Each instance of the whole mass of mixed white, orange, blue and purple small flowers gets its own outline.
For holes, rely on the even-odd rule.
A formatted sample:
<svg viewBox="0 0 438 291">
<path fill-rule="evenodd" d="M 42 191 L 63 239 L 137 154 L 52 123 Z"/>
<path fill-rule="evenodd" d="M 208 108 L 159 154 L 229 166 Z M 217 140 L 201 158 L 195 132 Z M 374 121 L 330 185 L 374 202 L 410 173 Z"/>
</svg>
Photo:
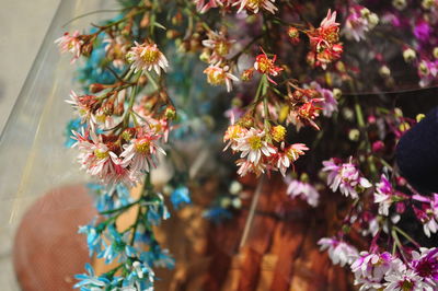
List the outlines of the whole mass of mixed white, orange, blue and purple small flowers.
<svg viewBox="0 0 438 291">
<path fill-rule="evenodd" d="M 77 288 L 153 290 L 154 269 L 174 265 L 155 235 L 166 201 L 189 205 L 208 165 L 226 190 L 206 220 L 233 219 L 243 178 L 280 178 L 285 197 L 326 214 L 318 244 L 360 290 L 438 289 L 438 194 L 416 190 L 394 159 L 425 117 L 403 113 L 397 92 L 438 83 L 437 0 L 119 4 L 118 16 L 56 40 L 83 88 L 67 101 L 78 115 L 68 144 L 99 182 L 100 216 L 79 232 L 114 266 L 96 275 L 88 265 Z M 218 137 L 223 153 L 204 151 Z M 187 149 L 194 138 L 203 146 Z"/>
</svg>

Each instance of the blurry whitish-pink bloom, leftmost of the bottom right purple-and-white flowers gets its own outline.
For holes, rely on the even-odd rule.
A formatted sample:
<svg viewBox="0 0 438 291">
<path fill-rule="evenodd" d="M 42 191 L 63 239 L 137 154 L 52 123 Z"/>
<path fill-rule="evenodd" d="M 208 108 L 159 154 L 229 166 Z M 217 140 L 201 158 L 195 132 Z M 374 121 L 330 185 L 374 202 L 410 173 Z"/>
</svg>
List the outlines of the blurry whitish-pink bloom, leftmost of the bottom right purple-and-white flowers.
<svg viewBox="0 0 438 291">
<path fill-rule="evenodd" d="M 339 264 L 342 267 L 351 264 L 359 255 L 356 247 L 334 237 L 323 237 L 318 244 L 321 251 L 328 249 L 328 257 L 334 265 Z"/>
</svg>

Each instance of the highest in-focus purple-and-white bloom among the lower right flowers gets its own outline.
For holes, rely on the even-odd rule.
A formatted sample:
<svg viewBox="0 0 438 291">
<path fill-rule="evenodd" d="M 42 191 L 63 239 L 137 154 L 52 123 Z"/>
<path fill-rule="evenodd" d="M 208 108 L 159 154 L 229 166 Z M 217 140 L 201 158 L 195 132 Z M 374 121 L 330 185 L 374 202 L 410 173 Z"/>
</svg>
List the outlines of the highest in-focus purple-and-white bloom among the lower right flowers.
<svg viewBox="0 0 438 291">
<path fill-rule="evenodd" d="M 358 191 L 372 186 L 368 179 L 360 176 L 356 165 L 351 162 L 338 165 L 333 160 L 330 160 L 324 161 L 323 165 L 322 171 L 328 172 L 327 184 L 332 191 L 336 191 L 339 188 L 344 196 L 357 199 L 359 197 Z"/>
</svg>

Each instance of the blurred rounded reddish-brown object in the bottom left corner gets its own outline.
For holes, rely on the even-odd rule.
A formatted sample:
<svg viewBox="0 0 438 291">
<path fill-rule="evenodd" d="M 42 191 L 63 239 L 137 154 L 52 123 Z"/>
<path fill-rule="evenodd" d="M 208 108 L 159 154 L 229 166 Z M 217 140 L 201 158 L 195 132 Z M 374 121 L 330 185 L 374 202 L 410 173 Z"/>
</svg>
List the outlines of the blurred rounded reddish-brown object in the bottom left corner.
<svg viewBox="0 0 438 291">
<path fill-rule="evenodd" d="M 23 216 L 13 247 L 13 264 L 24 291 L 71 290 L 76 273 L 90 261 L 85 237 L 78 226 L 95 216 L 85 187 L 49 191 Z"/>
</svg>

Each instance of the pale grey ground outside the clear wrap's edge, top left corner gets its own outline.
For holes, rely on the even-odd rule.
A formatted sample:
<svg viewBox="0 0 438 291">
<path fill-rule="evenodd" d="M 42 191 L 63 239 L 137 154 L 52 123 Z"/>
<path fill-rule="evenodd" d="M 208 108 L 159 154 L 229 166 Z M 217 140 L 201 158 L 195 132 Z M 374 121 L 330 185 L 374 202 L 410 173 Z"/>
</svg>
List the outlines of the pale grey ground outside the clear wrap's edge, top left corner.
<svg viewBox="0 0 438 291">
<path fill-rule="evenodd" d="M 0 131 L 20 93 L 60 0 L 1 0 Z M 1 272 L 0 272 L 0 276 Z"/>
</svg>

